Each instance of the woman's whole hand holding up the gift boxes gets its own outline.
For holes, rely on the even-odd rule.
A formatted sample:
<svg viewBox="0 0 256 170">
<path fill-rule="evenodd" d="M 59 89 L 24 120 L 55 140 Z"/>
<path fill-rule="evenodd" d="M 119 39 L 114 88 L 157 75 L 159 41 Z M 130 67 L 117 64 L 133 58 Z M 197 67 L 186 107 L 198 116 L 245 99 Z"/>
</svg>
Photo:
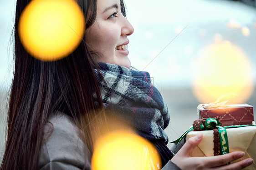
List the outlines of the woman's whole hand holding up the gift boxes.
<svg viewBox="0 0 256 170">
<path fill-rule="evenodd" d="M 237 160 L 245 155 L 244 152 L 240 151 L 210 157 L 191 157 L 190 154 L 202 139 L 203 134 L 190 138 L 171 161 L 182 170 L 241 170 L 253 163 L 253 160 L 248 158 L 226 165 L 228 162 Z"/>
</svg>

